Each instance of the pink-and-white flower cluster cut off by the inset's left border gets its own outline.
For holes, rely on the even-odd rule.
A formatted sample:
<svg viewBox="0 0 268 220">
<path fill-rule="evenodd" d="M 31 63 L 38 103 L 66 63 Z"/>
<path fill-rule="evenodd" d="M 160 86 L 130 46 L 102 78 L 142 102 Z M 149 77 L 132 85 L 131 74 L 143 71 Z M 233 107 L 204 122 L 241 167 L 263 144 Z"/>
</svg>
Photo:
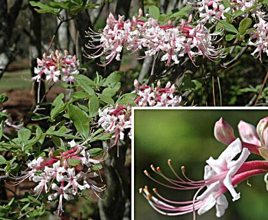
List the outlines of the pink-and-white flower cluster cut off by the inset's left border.
<svg viewBox="0 0 268 220">
<path fill-rule="evenodd" d="M 116 104 L 113 107 L 111 105 L 103 111 L 99 109 L 99 116 L 98 124 L 105 132 L 113 134 L 114 140 L 111 146 L 114 146 L 118 139 L 124 140 L 125 129 L 131 129 L 131 106 Z M 129 131 L 129 137 L 131 138 L 131 131 Z"/>
</svg>

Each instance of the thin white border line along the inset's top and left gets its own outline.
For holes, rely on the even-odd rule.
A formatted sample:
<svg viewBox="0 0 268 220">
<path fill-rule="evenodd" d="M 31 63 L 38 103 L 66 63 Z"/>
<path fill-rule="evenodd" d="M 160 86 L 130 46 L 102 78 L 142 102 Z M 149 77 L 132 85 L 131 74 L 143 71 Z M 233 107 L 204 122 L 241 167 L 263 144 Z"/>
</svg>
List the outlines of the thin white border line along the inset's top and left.
<svg viewBox="0 0 268 220">
<path fill-rule="evenodd" d="M 268 107 L 131 107 L 131 220 L 134 219 L 134 111 L 135 110 L 268 110 Z"/>
</svg>

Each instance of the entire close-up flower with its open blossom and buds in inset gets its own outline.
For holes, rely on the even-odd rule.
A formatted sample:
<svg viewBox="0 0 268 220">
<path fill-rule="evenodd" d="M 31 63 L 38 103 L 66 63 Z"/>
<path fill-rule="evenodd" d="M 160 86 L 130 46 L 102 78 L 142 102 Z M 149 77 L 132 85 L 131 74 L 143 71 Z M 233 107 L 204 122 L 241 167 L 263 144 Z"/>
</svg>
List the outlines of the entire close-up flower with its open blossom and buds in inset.
<svg viewBox="0 0 268 220">
<path fill-rule="evenodd" d="M 267 148 L 268 117 L 260 120 L 257 131 L 252 124 L 243 121 L 238 124 L 238 130 L 243 142 L 234 136 L 232 126 L 223 121 L 222 118 L 216 122 L 214 127 L 215 137 L 228 146 L 218 159 L 210 157 L 206 161 L 208 165 L 205 166 L 203 180 L 193 181 L 189 179 L 185 174 L 184 167 L 181 168 L 184 178 L 180 177 L 172 168 L 171 160 L 168 160 L 168 165 L 177 179 L 170 179 L 170 177 L 161 172 L 159 167 L 151 166 L 152 170 L 167 183 L 156 180 L 147 170 L 144 170 L 144 173 L 150 179 L 168 188 L 197 190 L 192 201 L 171 201 L 160 195 L 156 189 L 153 189 L 155 192 L 155 196 L 153 196 L 148 187 L 145 186 L 140 189 L 140 192 L 150 203 L 150 206 L 157 212 L 170 216 L 194 213 L 195 211 L 198 214 L 203 214 L 216 206 L 216 217 L 221 217 L 228 207 L 225 192 L 229 191 L 232 195 L 232 201 L 236 201 L 240 199 L 241 195 L 236 192 L 234 186 L 249 177 L 264 174 L 268 171 L 267 161 L 245 162 L 250 153 L 261 155 L 261 151 L 259 152 L 258 150 L 263 148 L 262 146 Z M 236 160 L 234 159 L 235 157 L 237 158 Z M 266 175 L 265 181 L 268 184 L 267 177 Z"/>
</svg>

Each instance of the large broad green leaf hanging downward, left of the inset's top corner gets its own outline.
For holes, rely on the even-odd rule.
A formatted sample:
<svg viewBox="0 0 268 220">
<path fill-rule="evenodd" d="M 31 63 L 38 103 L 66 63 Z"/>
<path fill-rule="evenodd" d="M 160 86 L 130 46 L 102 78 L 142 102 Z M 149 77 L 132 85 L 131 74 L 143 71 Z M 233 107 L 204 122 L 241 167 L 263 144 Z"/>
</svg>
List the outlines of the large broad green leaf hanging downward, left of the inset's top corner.
<svg viewBox="0 0 268 220">
<path fill-rule="evenodd" d="M 78 133 L 84 138 L 89 137 L 89 117 L 79 107 L 74 104 L 68 105 L 68 114 Z"/>
</svg>

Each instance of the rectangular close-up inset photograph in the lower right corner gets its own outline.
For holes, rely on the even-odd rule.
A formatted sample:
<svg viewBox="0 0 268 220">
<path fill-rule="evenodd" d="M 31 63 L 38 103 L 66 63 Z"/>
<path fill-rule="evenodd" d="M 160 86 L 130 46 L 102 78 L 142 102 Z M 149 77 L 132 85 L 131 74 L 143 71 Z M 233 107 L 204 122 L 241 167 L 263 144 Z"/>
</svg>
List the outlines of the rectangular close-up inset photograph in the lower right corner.
<svg viewBox="0 0 268 220">
<path fill-rule="evenodd" d="M 267 109 L 135 109 L 134 219 L 267 216 Z"/>
</svg>

